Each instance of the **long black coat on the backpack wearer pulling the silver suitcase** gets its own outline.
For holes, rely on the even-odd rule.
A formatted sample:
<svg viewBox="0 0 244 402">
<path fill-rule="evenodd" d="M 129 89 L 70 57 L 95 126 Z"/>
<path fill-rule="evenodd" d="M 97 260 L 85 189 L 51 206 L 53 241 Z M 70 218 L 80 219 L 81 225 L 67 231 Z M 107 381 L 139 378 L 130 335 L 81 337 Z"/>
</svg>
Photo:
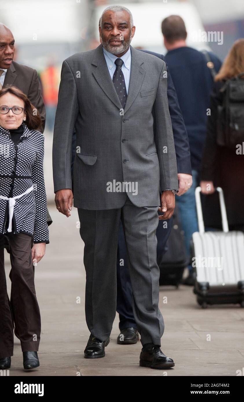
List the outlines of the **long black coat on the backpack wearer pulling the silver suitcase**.
<svg viewBox="0 0 244 402">
<path fill-rule="evenodd" d="M 223 103 L 224 82 L 216 82 L 211 95 L 211 115 L 208 116 L 206 145 L 203 154 L 201 180 L 213 181 L 222 187 L 229 226 L 244 225 L 244 155 L 236 154 L 216 143 L 217 107 Z M 206 195 L 203 200 L 205 226 L 221 228 L 217 193 Z"/>
</svg>

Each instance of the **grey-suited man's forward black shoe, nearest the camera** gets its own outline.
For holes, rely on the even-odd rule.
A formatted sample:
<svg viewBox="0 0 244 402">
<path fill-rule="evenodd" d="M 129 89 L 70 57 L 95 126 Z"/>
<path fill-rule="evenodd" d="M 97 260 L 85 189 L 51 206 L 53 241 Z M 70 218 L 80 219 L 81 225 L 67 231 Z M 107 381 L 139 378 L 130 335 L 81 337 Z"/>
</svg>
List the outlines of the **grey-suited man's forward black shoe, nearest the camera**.
<svg viewBox="0 0 244 402">
<path fill-rule="evenodd" d="M 168 369 L 174 367 L 174 361 L 164 355 L 159 345 L 147 343 L 141 350 L 140 366 L 151 367 L 152 369 Z"/>
</svg>

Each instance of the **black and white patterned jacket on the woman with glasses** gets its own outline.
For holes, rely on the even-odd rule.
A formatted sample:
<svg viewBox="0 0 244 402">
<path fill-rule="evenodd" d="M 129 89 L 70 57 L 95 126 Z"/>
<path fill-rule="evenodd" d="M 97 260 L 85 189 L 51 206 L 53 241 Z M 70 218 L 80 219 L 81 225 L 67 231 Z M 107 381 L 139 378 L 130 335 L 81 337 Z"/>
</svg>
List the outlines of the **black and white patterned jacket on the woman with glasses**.
<svg viewBox="0 0 244 402">
<path fill-rule="evenodd" d="M 34 243 L 49 243 L 47 198 L 43 176 L 44 135 L 29 130 L 19 144 L 12 142 L 10 132 L 0 126 L 0 195 L 15 197 L 33 185 L 33 191 L 15 200 L 12 222 L 14 233 L 33 236 Z M 8 200 L 0 199 L 0 234 L 7 232 Z"/>
</svg>

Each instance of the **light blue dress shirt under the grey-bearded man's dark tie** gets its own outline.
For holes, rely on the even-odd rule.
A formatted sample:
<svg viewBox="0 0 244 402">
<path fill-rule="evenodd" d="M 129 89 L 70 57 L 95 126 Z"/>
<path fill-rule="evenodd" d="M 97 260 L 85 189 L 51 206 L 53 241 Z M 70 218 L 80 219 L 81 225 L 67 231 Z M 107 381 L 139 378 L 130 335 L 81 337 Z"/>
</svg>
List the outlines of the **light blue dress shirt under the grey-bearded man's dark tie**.
<svg viewBox="0 0 244 402">
<path fill-rule="evenodd" d="M 103 47 L 103 54 L 108 66 L 108 71 L 110 73 L 111 78 L 113 79 L 114 72 L 116 70 L 116 64 L 114 64 L 116 59 L 121 59 L 123 60 L 123 65 L 122 65 L 122 72 L 124 74 L 124 80 L 125 80 L 125 86 L 126 86 L 126 92 L 128 94 L 129 90 L 129 83 L 130 83 L 130 66 L 131 66 L 131 53 L 130 53 L 130 47 L 127 50 L 126 53 L 124 53 L 121 57 L 117 57 L 114 54 L 108 52 L 107 50 L 104 49 Z"/>
</svg>

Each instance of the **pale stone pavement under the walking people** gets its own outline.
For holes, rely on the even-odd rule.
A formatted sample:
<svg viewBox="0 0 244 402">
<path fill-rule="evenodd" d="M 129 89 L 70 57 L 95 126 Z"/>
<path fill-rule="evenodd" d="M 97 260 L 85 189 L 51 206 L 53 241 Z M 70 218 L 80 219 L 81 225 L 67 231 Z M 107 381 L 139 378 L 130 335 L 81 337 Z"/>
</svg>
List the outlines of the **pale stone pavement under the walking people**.
<svg viewBox="0 0 244 402">
<path fill-rule="evenodd" d="M 78 213 L 73 207 L 71 217 L 67 218 L 54 205 L 49 205 L 48 209 L 54 221 L 50 226 L 50 244 L 35 268 L 35 287 L 42 320 L 38 353 L 40 367 L 27 373 L 23 371 L 20 342 L 14 337 L 10 376 L 235 376 L 236 370 L 242 370 L 244 309 L 227 305 L 209 306 L 203 310 L 196 303 L 192 287 L 186 286 L 179 289 L 160 288 L 159 307 L 165 322 L 161 349 L 174 359 L 173 369 L 164 371 L 139 367 L 141 343 L 116 343 L 118 314 L 110 344 L 105 349 L 106 356 L 84 359 L 89 331 L 84 312 L 85 269 L 83 242 L 77 227 Z M 9 291 L 7 253 L 5 261 Z"/>
</svg>

